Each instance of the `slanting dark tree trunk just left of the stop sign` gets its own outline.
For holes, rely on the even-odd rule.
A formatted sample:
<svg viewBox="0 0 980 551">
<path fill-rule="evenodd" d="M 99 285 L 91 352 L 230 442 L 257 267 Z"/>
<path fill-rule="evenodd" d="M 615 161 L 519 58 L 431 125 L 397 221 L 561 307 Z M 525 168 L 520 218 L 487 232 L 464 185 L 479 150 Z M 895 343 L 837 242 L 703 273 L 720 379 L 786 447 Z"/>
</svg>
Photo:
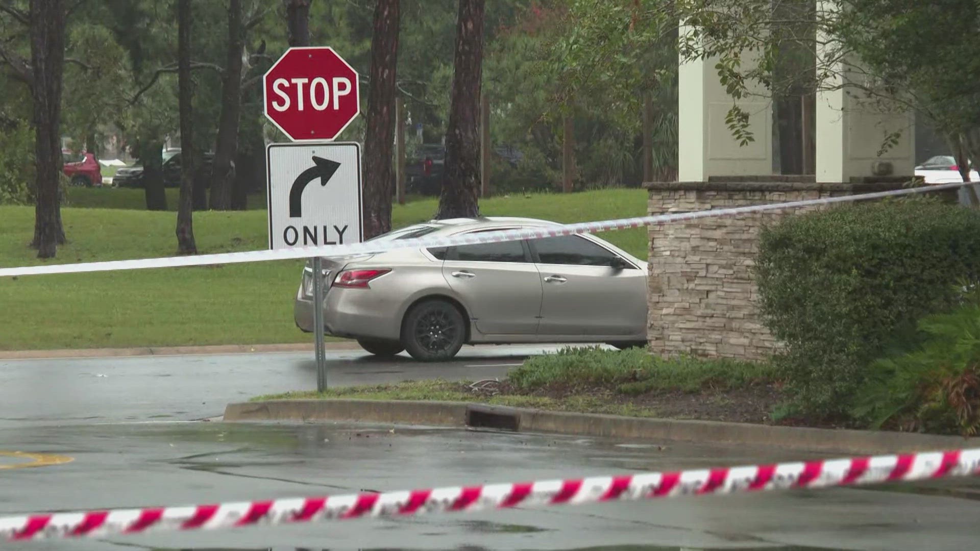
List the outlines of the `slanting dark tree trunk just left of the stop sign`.
<svg viewBox="0 0 980 551">
<path fill-rule="evenodd" d="M 242 53 L 245 34 L 242 29 L 241 0 L 228 0 L 228 51 L 221 75 L 221 119 L 218 144 L 211 180 L 211 210 L 231 209 L 231 188 L 235 182 L 235 158 L 238 152 L 238 123 L 242 110 Z"/>
</svg>

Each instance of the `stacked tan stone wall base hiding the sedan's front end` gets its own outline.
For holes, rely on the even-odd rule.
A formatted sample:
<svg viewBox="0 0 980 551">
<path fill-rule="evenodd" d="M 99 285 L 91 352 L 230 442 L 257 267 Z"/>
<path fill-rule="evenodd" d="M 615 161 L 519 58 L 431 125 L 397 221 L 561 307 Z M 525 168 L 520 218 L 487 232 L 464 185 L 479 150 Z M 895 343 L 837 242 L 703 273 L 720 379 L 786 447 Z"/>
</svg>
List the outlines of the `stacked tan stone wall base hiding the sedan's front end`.
<svg viewBox="0 0 980 551">
<path fill-rule="evenodd" d="M 901 182 L 817 184 L 804 177 L 729 177 L 655 182 L 650 214 L 682 213 L 837 197 L 902 187 Z M 809 209 L 813 209 L 810 207 Z M 815 207 L 815 208 L 832 208 Z M 779 343 L 761 325 L 753 275 L 763 225 L 805 209 L 721 216 L 650 226 L 650 349 L 758 360 Z"/>
</svg>

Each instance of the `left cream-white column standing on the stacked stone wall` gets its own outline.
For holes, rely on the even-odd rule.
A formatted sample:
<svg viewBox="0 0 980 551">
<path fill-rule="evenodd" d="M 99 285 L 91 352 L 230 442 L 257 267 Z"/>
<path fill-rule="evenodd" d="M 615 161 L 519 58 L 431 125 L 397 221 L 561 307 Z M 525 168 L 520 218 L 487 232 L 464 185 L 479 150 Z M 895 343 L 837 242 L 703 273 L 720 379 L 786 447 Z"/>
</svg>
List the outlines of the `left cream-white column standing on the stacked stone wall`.
<svg viewBox="0 0 980 551">
<path fill-rule="evenodd" d="M 683 30 L 682 30 L 683 32 Z M 772 174 L 772 107 L 761 95 L 737 101 L 749 113 L 755 141 L 741 145 L 725 118 L 734 100 L 725 92 L 715 61 L 680 60 L 677 113 L 678 179 L 708 181 L 711 176 Z M 743 69 L 754 63 L 746 56 Z M 761 86 L 753 90 L 763 93 Z"/>
</svg>

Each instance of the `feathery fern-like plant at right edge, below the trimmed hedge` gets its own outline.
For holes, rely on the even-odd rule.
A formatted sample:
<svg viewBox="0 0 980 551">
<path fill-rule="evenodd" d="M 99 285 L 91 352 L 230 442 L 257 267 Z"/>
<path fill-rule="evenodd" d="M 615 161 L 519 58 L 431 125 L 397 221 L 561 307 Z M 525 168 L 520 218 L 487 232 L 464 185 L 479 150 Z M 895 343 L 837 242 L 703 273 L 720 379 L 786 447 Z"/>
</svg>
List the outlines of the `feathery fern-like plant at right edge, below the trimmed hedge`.
<svg viewBox="0 0 980 551">
<path fill-rule="evenodd" d="M 853 413 L 872 428 L 955 432 L 980 429 L 980 300 L 919 323 L 925 342 L 874 363 Z"/>
</svg>

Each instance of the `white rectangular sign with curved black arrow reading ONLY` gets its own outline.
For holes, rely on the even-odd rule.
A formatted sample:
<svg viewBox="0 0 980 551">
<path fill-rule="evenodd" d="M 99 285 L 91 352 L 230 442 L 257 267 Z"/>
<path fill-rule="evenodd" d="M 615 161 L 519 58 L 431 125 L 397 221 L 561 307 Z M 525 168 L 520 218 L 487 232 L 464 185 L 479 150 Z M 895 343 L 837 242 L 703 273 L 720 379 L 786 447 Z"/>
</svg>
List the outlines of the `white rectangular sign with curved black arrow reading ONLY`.
<svg viewBox="0 0 980 551">
<path fill-rule="evenodd" d="M 273 143 L 267 170 L 270 249 L 362 241 L 359 144 Z"/>
</svg>

